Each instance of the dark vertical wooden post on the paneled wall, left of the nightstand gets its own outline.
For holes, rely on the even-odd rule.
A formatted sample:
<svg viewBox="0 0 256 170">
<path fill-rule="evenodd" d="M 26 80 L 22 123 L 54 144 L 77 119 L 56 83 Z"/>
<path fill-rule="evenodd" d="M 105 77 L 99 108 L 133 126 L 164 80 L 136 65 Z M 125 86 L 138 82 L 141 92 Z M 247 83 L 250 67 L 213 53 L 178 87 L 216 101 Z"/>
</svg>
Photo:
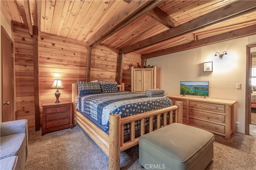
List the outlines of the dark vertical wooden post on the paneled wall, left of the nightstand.
<svg viewBox="0 0 256 170">
<path fill-rule="evenodd" d="M 33 26 L 33 56 L 34 56 L 34 96 L 35 96 L 35 129 L 40 130 L 39 112 L 39 64 L 38 64 L 38 28 Z"/>
</svg>

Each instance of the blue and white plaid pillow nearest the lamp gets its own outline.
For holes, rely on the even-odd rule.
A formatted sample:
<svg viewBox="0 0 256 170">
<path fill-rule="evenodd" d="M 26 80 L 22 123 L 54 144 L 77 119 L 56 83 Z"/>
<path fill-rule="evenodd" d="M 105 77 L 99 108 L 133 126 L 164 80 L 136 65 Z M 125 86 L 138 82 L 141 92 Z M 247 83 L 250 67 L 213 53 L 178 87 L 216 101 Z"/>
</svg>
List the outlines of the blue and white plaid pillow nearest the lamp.
<svg viewBox="0 0 256 170">
<path fill-rule="evenodd" d="M 100 89 L 100 83 L 98 82 L 77 81 L 77 86 L 80 96 L 102 93 Z"/>
</svg>

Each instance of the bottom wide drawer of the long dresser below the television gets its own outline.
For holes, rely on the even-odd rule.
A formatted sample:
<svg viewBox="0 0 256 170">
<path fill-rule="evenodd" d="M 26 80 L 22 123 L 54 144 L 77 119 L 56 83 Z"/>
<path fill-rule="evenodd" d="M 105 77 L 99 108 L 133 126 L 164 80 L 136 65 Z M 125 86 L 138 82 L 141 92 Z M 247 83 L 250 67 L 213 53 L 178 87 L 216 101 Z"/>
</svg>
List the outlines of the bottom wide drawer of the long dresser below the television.
<svg viewBox="0 0 256 170">
<path fill-rule="evenodd" d="M 222 125 L 216 125 L 214 123 L 200 121 L 200 120 L 192 119 L 192 118 L 189 118 L 189 124 L 197 126 L 197 127 L 206 128 L 209 130 L 214 130 L 214 131 L 220 132 L 220 133 L 225 133 L 225 127 Z"/>
</svg>

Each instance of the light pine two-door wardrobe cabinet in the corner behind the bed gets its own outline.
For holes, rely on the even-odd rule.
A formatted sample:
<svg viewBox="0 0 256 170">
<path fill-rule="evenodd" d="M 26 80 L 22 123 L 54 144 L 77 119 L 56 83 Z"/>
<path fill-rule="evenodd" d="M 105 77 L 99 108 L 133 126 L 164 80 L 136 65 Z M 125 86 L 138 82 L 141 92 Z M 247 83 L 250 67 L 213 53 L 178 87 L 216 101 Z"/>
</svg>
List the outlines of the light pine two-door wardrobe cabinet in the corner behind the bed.
<svg viewBox="0 0 256 170">
<path fill-rule="evenodd" d="M 131 67 L 131 91 L 145 92 L 146 89 L 156 89 L 156 67 Z"/>
</svg>

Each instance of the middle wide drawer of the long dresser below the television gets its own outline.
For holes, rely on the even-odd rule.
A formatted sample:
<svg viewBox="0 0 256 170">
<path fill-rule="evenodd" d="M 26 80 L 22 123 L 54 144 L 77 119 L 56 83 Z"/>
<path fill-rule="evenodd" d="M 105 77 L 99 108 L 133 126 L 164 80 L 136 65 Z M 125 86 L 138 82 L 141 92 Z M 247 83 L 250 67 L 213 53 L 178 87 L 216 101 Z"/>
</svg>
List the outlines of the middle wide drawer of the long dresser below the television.
<svg viewBox="0 0 256 170">
<path fill-rule="evenodd" d="M 189 110 L 189 115 L 192 117 L 199 117 L 206 120 L 216 121 L 220 123 L 225 122 L 225 116 L 224 115 L 217 115 L 212 113 L 206 113 L 201 111 L 195 111 L 195 110 Z"/>
</svg>

